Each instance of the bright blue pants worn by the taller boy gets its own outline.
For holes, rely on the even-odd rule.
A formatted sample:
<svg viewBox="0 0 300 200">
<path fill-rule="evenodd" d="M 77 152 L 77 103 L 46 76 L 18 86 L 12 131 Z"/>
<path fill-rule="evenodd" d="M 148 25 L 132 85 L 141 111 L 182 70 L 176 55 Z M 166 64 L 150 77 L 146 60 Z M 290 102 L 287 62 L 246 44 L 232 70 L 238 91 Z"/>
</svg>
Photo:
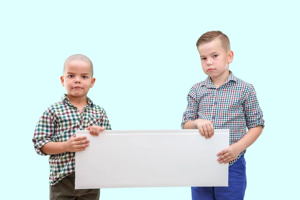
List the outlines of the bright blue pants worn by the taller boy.
<svg viewBox="0 0 300 200">
<path fill-rule="evenodd" d="M 192 200 L 242 200 L 246 184 L 246 161 L 242 155 L 229 166 L 227 187 L 191 187 L 191 198 Z"/>
</svg>

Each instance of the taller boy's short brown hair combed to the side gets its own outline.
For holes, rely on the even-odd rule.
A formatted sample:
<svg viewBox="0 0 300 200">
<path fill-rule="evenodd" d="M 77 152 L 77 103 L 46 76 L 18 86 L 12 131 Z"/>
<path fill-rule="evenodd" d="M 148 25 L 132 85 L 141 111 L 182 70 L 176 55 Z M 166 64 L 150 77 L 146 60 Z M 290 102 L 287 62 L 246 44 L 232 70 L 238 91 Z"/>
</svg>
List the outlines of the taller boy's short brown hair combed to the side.
<svg viewBox="0 0 300 200">
<path fill-rule="evenodd" d="M 227 35 L 225 35 L 224 33 L 222 33 L 219 30 L 212 30 L 212 31 L 208 31 L 208 32 L 205 32 L 204 34 L 202 34 L 198 38 L 198 40 L 196 42 L 196 46 L 198 47 L 201 44 L 208 43 L 215 38 L 220 39 L 222 46 L 226 51 L 230 50 L 229 38 L 227 37 Z"/>
</svg>

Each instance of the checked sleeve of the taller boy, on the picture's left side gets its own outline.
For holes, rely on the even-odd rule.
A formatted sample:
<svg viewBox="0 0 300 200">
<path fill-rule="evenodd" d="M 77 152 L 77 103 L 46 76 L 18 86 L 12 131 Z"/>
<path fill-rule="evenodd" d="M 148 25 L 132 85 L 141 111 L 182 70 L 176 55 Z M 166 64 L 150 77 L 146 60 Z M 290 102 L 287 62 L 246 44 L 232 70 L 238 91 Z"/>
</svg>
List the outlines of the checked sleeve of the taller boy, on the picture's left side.
<svg viewBox="0 0 300 200">
<path fill-rule="evenodd" d="M 190 88 L 187 94 L 187 106 L 183 112 L 181 128 L 183 129 L 186 121 L 195 120 L 198 116 L 198 103 L 196 100 L 196 92 L 193 87 Z"/>
</svg>

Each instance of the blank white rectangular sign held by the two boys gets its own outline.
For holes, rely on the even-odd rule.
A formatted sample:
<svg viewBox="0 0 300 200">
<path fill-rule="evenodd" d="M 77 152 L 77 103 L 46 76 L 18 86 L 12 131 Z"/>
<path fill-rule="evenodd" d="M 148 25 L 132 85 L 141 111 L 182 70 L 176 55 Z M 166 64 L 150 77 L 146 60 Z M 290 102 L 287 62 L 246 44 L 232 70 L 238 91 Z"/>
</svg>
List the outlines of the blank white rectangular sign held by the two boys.
<svg viewBox="0 0 300 200">
<path fill-rule="evenodd" d="M 205 139 L 196 129 L 104 130 L 85 135 L 75 153 L 75 189 L 116 187 L 228 186 L 228 163 L 216 153 L 229 146 L 229 130 Z"/>
</svg>

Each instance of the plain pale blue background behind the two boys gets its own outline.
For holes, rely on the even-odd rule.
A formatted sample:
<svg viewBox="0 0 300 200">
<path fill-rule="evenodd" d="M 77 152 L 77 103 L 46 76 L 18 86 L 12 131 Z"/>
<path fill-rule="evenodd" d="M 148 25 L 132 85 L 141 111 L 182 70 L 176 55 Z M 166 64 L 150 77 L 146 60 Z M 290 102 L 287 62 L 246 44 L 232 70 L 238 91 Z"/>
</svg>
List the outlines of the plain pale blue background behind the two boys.
<svg viewBox="0 0 300 200">
<path fill-rule="evenodd" d="M 66 57 L 87 55 L 88 93 L 113 129 L 179 129 L 186 94 L 203 80 L 195 47 L 228 35 L 229 68 L 256 89 L 265 129 L 248 148 L 245 199 L 295 199 L 299 165 L 299 4 L 281 1 L 1 1 L 1 199 L 48 199 L 47 157 L 31 138 L 65 92 Z M 101 200 L 190 199 L 189 187 L 101 189 Z"/>
</svg>

